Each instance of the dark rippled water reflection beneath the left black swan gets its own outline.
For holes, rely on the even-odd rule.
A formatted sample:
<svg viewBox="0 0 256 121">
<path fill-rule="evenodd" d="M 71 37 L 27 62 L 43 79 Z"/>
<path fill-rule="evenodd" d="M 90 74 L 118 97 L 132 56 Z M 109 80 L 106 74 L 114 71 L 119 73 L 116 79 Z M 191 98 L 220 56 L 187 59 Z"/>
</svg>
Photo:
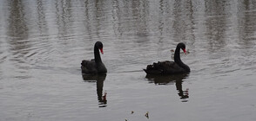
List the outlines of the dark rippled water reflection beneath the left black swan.
<svg viewBox="0 0 256 121">
<path fill-rule="evenodd" d="M 83 73 L 84 82 L 96 82 L 99 107 L 105 107 L 107 104 L 106 92 L 103 94 L 103 86 L 106 74 L 85 74 Z"/>
</svg>

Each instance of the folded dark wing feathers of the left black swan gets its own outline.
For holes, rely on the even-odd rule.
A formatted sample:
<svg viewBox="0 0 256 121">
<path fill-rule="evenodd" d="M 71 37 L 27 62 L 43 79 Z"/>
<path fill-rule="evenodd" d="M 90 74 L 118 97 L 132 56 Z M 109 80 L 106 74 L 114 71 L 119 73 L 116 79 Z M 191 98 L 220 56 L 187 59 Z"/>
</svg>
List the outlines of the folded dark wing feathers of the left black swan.
<svg viewBox="0 0 256 121">
<path fill-rule="evenodd" d="M 83 60 L 81 63 L 82 73 L 97 73 L 95 60 Z"/>
</svg>

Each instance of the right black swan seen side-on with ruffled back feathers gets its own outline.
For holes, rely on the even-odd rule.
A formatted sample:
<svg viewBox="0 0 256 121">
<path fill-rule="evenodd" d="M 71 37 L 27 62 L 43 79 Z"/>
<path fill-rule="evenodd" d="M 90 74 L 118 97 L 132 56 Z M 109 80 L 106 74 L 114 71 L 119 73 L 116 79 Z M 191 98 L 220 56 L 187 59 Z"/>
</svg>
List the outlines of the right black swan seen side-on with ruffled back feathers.
<svg viewBox="0 0 256 121">
<path fill-rule="evenodd" d="M 180 48 L 185 52 L 185 44 L 179 43 L 175 49 L 174 53 L 174 61 L 158 61 L 158 63 L 153 63 L 152 65 L 148 65 L 146 69 L 144 69 L 147 74 L 176 74 L 176 73 L 189 73 L 190 68 L 185 65 L 180 60 L 179 51 Z"/>
</svg>

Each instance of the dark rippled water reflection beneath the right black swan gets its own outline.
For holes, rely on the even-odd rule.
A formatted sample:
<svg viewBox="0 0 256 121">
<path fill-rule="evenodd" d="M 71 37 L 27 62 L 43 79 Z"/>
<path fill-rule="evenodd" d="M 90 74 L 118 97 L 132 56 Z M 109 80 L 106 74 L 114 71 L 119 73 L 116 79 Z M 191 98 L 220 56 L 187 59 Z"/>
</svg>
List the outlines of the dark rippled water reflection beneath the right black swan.
<svg viewBox="0 0 256 121">
<path fill-rule="evenodd" d="M 150 83 L 155 83 L 156 85 L 167 85 L 175 83 L 176 89 L 178 90 L 178 95 L 182 102 L 187 102 L 189 98 L 188 88 L 185 91 L 182 89 L 182 82 L 187 78 L 189 73 L 182 73 L 176 75 L 150 75 L 147 74 L 145 78 L 150 81 Z"/>
</svg>

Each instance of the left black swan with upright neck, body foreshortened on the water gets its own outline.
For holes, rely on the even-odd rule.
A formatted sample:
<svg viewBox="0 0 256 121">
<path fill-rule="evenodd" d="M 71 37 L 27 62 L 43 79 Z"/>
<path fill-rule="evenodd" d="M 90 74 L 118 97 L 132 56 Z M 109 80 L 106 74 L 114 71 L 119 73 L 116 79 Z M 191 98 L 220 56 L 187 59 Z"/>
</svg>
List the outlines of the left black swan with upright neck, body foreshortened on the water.
<svg viewBox="0 0 256 121">
<path fill-rule="evenodd" d="M 94 59 L 82 60 L 81 69 L 82 73 L 107 73 L 107 69 L 104 67 L 104 63 L 100 58 L 99 51 L 103 53 L 103 44 L 101 41 L 97 41 L 94 45 Z"/>
</svg>

